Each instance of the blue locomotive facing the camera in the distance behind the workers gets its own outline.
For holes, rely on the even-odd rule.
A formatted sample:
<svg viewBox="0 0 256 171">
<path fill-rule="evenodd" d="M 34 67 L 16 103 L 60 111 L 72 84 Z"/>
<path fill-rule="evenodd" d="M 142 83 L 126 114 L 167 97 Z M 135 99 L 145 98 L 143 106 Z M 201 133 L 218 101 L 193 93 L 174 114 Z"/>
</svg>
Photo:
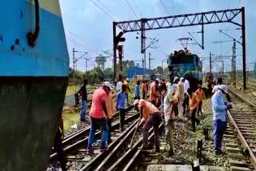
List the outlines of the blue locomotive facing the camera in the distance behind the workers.
<svg viewBox="0 0 256 171">
<path fill-rule="evenodd" d="M 202 84 L 202 61 L 197 54 L 191 54 L 188 50 L 174 51 L 167 62 L 171 77 L 186 78 L 194 90 L 198 84 Z"/>
</svg>

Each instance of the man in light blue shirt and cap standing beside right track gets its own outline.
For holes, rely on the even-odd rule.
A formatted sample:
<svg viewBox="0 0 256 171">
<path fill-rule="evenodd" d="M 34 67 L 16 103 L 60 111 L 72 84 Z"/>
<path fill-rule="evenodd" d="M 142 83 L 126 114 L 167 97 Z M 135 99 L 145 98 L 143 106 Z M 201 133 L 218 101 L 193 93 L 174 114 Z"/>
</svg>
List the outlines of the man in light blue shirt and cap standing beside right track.
<svg viewBox="0 0 256 171">
<path fill-rule="evenodd" d="M 232 106 L 224 102 L 223 95 L 228 93 L 226 85 L 219 85 L 218 91 L 211 98 L 214 113 L 214 151 L 216 155 L 222 154 L 222 137 L 226 130 L 226 110 Z"/>
</svg>

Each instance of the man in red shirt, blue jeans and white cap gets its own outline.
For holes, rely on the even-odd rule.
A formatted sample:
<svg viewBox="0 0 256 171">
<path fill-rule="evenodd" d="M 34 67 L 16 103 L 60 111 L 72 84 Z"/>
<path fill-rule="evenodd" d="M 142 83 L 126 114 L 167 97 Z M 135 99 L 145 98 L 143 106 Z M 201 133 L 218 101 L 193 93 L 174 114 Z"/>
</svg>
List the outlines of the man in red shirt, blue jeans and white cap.
<svg viewBox="0 0 256 171">
<path fill-rule="evenodd" d="M 102 125 L 103 130 L 100 147 L 101 151 L 108 149 L 106 141 L 108 138 L 109 128 L 106 121 L 108 119 L 106 100 L 111 89 L 112 88 L 110 82 L 103 82 L 102 87 L 96 89 L 92 97 L 92 103 L 90 107 L 90 133 L 88 139 L 88 154 L 91 156 L 94 156 L 94 134 L 98 129 L 98 125 Z"/>
</svg>

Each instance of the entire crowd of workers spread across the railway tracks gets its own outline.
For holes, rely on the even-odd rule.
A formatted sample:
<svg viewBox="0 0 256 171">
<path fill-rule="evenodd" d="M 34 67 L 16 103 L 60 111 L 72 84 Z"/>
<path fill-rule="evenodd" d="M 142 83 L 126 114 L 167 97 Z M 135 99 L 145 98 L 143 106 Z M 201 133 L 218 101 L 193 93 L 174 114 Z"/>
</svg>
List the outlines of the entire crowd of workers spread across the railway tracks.
<svg viewBox="0 0 256 171">
<path fill-rule="evenodd" d="M 87 92 L 86 85 L 88 81 L 85 79 L 83 85 L 78 90 L 78 93 L 82 96 L 82 109 L 80 113 L 80 120 L 86 121 L 86 104 L 87 104 Z M 87 153 L 94 156 L 94 134 L 99 129 L 99 125 L 102 127 L 102 141 L 100 144 L 101 151 L 107 150 L 108 145 L 111 143 L 111 122 L 116 111 L 119 113 L 120 126 L 119 131 L 124 131 L 124 121 L 126 115 L 126 101 L 129 104 L 128 93 L 130 93 L 129 79 L 123 81 L 120 79 L 116 85 L 117 96 L 114 104 L 111 91 L 113 85 L 110 82 L 103 82 L 102 85 L 96 89 L 93 93 L 92 103 L 90 107 L 90 134 L 88 140 Z M 142 99 L 140 98 L 140 89 L 142 89 Z M 148 90 L 149 99 L 147 99 Z M 218 78 L 218 85 L 214 86 L 212 96 L 212 109 L 214 113 L 214 149 L 216 154 L 222 153 L 222 137 L 226 129 L 226 110 L 231 109 L 232 106 L 228 102 L 224 102 L 223 94 L 226 94 L 226 98 L 230 101 L 228 90 L 226 85 L 222 85 L 222 78 Z M 192 130 L 195 131 L 196 124 L 200 121 L 196 117 L 196 113 L 202 114 L 202 101 L 205 99 L 205 93 L 202 89 L 202 85 L 198 85 L 198 89 L 194 92 L 190 89 L 190 82 L 185 78 L 172 78 L 169 82 L 156 79 L 150 84 L 146 81 L 142 82 L 142 88 L 138 81 L 134 88 L 134 109 L 140 112 L 139 125 L 143 125 L 143 149 L 149 149 L 148 136 L 150 128 L 154 127 L 155 149 L 156 152 L 160 152 L 159 141 L 159 125 L 163 119 L 166 130 L 166 141 L 168 150 L 166 155 L 174 155 L 173 147 L 173 130 L 174 121 L 186 114 L 189 114 L 192 122 Z M 114 108 L 115 105 L 115 108 Z M 62 121 L 61 121 L 62 123 Z M 63 124 L 60 124 L 58 133 L 55 137 L 54 149 L 58 152 L 59 161 L 63 163 L 65 159 L 62 157 L 62 150 L 59 146 L 62 146 L 61 140 L 63 136 Z M 66 166 L 62 164 L 62 170 L 65 170 Z"/>
</svg>

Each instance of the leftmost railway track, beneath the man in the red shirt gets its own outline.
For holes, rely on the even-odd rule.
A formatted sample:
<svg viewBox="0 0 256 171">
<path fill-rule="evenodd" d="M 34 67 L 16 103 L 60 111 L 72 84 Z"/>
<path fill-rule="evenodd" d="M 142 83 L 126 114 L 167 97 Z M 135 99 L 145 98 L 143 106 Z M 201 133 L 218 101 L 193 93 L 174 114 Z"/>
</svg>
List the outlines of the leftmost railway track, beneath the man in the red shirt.
<svg viewBox="0 0 256 171">
<path fill-rule="evenodd" d="M 115 144 L 120 141 L 122 137 L 124 137 L 128 130 L 130 130 L 130 125 L 134 125 L 135 121 L 138 120 L 139 113 L 132 110 L 133 106 L 130 106 L 126 109 L 128 113 L 126 113 L 126 119 L 125 119 L 125 132 L 124 133 L 118 133 L 119 128 L 119 121 L 114 121 L 112 123 L 112 129 L 113 129 L 113 135 L 112 139 L 114 140 L 110 145 L 109 148 L 114 147 Z M 86 163 L 90 162 L 92 158 L 90 158 L 89 155 L 86 154 L 86 147 L 88 144 L 88 135 L 90 133 L 90 127 L 87 127 L 86 129 L 78 130 L 76 133 L 73 133 L 72 136 L 66 137 L 66 139 L 63 141 L 64 145 L 64 154 L 67 157 L 67 160 L 70 162 L 70 170 L 78 170 L 81 169 Z M 95 138 L 100 139 L 101 131 L 98 130 L 95 133 Z M 99 147 L 98 147 L 98 141 L 96 141 L 95 153 L 98 155 L 104 155 L 104 153 L 99 153 Z M 110 150 L 109 150 L 110 151 Z M 96 156 L 96 157 L 97 157 Z M 94 157 L 95 158 L 95 157 Z M 50 155 L 50 162 L 54 162 L 57 159 L 57 153 L 52 153 Z M 76 163 L 76 164 L 74 164 Z M 80 164 L 80 166 L 79 166 Z M 73 165 L 75 165 L 73 167 Z"/>
</svg>

